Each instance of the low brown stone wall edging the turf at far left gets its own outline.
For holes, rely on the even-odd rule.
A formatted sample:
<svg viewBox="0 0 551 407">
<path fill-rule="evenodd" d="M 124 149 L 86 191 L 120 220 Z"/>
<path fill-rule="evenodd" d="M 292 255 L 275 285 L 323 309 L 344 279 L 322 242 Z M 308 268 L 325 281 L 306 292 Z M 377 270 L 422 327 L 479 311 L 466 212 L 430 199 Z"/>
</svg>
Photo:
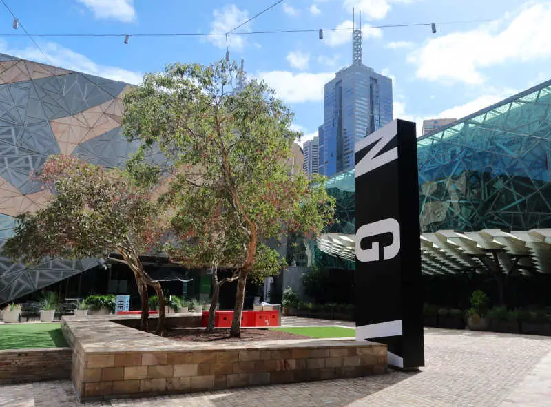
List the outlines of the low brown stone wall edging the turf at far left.
<svg viewBox="0 0 551 407">
<path fill-rule="evenodd" d="M 0 384 L 67 380 L 71 348 L 0 351 Z"/>
</svg>

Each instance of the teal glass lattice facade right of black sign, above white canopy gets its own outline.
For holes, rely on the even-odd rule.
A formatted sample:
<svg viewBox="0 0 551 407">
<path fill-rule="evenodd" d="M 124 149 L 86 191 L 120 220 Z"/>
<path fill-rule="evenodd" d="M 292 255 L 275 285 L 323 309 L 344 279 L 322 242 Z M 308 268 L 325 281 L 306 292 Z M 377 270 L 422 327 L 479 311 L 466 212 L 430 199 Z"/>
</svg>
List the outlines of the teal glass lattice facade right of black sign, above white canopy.
<svg viewBox="0 0 551 407">
<path fill-rule="evenodd" d="M 422 231 L 551 227 L 551 81 L 417 140 Z"/>
</svg>

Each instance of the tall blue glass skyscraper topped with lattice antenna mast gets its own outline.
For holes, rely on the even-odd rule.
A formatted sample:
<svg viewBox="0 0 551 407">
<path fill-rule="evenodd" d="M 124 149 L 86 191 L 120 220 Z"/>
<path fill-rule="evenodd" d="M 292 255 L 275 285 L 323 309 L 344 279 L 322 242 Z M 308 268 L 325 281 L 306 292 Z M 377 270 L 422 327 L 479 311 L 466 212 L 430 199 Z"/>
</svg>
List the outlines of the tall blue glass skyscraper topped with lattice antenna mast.
<svg viewBox="0 0 551 407">
<path fill-rule="evenodd" d="M 320 173 L 354 167 L 354 145 L 393 120 L 392 80 L 362 63 L 362 30 L 352 34 L 353 63 L 325 84 Z"/>
</svg>

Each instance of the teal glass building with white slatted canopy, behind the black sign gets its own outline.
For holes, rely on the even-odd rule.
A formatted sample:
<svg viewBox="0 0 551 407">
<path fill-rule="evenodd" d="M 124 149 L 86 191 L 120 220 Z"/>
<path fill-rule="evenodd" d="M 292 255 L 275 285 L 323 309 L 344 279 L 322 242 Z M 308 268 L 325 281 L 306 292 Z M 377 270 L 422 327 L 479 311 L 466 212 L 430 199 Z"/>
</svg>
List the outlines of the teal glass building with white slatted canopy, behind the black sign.
<svg viewBox="0 0 551 407">
<path fill-rule="evenodd" d="M 419 137 L 417 163 L 424 273 L 551 273 L 551 81 Z M 353 180 L 327 180 L 346 185 L 347 210 L 317 244 L 343 260 L 355 259 Z"/>
</svg>

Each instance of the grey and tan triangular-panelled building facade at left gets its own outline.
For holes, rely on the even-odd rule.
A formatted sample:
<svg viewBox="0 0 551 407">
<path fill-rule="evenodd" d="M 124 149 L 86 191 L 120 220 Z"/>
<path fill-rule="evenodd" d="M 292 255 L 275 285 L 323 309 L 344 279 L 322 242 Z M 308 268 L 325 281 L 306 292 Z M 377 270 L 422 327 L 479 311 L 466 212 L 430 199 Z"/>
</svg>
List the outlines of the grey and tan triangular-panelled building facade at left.
<svg viewBox="0 0 551 407">
<path fill-rule="evenodd" d="M 30 176 L 52 154 L 117 167 L 136 152 L 121 132 L 130 85 L 0 54 L 0 248 L 14 216 L 50 193 Z M 54 259 L 26 267 L 0 257 L 0 304 L 63 280 L 97 260 Z"/>
</svg>

